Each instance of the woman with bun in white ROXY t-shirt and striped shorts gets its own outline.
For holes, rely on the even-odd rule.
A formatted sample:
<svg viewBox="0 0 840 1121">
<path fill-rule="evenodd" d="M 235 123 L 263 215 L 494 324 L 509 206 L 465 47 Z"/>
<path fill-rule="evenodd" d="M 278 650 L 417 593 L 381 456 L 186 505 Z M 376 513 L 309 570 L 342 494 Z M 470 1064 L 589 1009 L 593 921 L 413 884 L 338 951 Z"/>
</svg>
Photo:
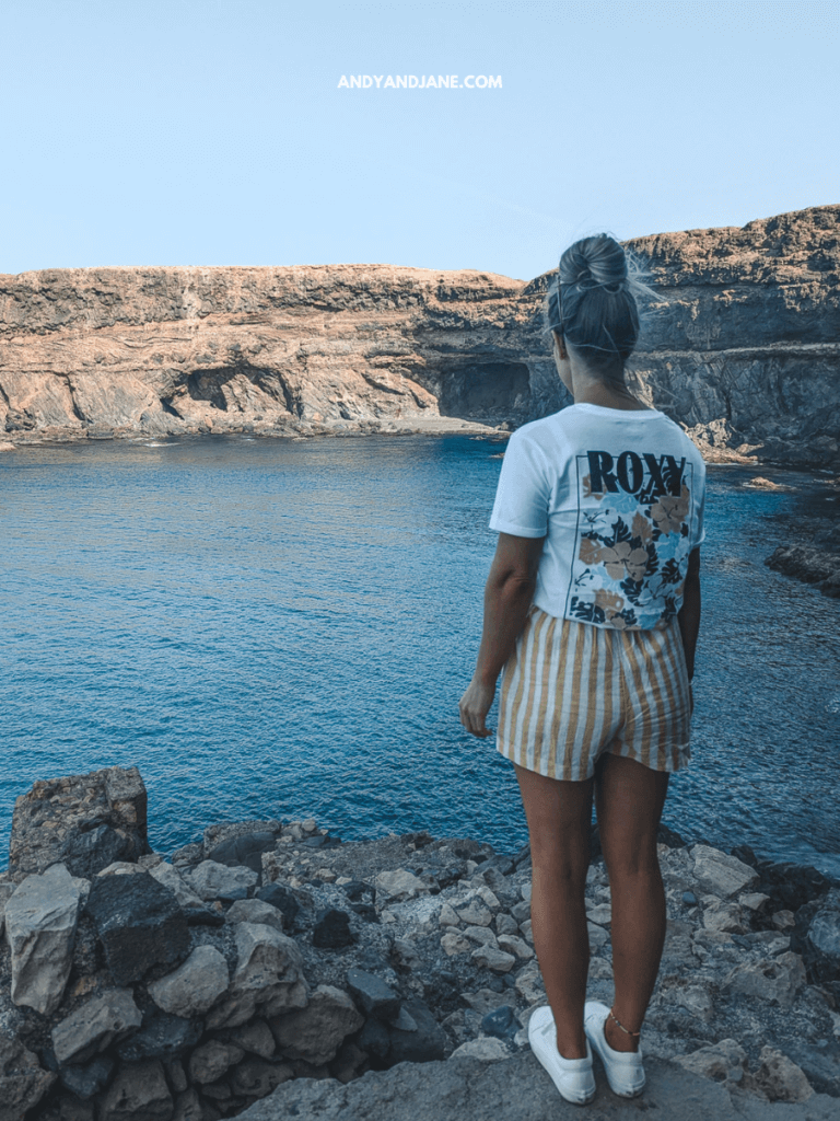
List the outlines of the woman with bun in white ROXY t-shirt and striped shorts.
<svg viewBox="0 0 840 1121">
<path fill-rule="evenodd" d="M 545 300 L 575 404 L 523 425 L 502 463 L 475 675 L 474 735 L 502 674 L 497 750 L 519 779 L 531 841 L 531 917 L 549 1004 L 529 1039 L 559 1092 L 645 1075 L 640 1035 L 665 937 L 656 831 L 669 775 L 691 758 L 706 471 L 682 429 L 625 385 L 653 295 L 608 234 L 563 253 Z M 584 902 L 592 798 L 612 892 L 615 1001 L 586 1000 Z"/>
</svg>

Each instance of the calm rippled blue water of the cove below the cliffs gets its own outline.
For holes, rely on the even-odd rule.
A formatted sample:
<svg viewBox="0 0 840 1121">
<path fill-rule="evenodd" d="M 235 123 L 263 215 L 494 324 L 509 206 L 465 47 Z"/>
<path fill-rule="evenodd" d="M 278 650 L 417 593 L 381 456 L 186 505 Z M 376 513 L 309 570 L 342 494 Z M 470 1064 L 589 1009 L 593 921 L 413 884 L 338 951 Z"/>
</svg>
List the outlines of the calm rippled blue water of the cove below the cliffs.
<svg viewBox="0 0 840 1121">
<path fill-rule="evenodd" d="M 0 457 L 0 861 L 38 778 L 137 763 L 150 840 L 317 818 L 513 851 L 512 765 L 468 735 L 504 445 L 101 443 Z M 709 467 L 694 758 L 664 821 L 840 874 L 840 601 L 771 572 L 824 479 Z M 489 715 L 495 728 L 496 706 Z"/>
</svg>

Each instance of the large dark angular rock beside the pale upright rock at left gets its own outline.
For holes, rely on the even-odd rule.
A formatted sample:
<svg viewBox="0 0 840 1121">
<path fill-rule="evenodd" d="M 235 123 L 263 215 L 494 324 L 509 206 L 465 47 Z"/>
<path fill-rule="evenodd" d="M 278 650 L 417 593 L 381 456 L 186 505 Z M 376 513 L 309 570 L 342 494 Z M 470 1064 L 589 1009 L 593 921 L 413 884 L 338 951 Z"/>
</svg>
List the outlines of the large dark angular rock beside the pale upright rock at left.
<svg viewBox="0 0 840 1121">
<path fill-rule="evenodd" d="M 148 872 L 97 877 L 85 909 L 118 985 L 139 981 L 152 965 L 179 965 L 189 954 L 186 915 Z"/>
</svg>

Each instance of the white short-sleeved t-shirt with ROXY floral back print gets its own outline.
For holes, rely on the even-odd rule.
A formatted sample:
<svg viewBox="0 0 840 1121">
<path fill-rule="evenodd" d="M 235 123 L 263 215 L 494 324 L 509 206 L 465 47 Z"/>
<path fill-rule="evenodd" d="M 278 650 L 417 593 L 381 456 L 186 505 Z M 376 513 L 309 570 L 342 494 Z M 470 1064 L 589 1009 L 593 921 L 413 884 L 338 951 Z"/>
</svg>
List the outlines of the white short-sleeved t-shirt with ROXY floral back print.
<svg viewBox="0 0 840 1121">
<path fill-rule="evenodd" d="M 664 413 L 569 405 L 512 434 L 489 527 L 545 537 L 533 602 L 549 614 L 661 629 L 706 537 L 704 494 L 702 456 Z"/>
</svg>

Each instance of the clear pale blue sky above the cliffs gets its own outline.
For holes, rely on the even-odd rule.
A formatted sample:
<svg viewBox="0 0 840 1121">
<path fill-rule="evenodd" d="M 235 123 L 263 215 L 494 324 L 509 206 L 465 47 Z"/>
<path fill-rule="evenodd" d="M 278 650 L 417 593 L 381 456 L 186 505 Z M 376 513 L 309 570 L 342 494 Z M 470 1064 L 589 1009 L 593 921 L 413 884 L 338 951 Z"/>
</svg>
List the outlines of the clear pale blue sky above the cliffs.
<svg viewBox="0 0 840 1121">
<path fill-rule="evenodd" d="M 3 0 L 0 272 L 384 262 L 840 202 L 836 0 Z M 342 75 L 502 89 L 339 89 Z"/>
</svg>

